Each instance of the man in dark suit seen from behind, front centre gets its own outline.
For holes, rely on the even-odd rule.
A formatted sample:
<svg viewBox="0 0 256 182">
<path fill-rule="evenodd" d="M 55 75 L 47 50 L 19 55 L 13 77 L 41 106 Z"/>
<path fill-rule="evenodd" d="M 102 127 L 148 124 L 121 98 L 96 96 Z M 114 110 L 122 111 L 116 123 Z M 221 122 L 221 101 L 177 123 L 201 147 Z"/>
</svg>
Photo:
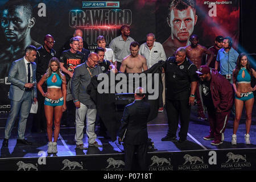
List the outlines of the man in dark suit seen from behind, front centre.
<svg viewBox="0 0 256 182">
<path fill-rule="evenodd" d="M 119 128 L 118 142 L 124 139 L 125 169 L 131 170 L 134 152 L 137 150 L 138 163 L 141 170 L 147 170 L 147 121 L 150 115 L 150 104 L 143 101 L 145 94 L 143 88 L 135 90 L 135 101 L 123 111 L 121 126 Z"/>
</svg>

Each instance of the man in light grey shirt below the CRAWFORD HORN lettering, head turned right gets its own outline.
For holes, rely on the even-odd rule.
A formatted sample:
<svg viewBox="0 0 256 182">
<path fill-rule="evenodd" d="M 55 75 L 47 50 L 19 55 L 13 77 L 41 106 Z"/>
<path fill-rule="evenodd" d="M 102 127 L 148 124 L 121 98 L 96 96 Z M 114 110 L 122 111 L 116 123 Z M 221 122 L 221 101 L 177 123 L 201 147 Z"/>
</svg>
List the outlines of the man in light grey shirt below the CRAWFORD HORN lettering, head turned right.
<svg viewBox="0 0 256 182">
<path fill-rule="evenodd" d="M 122 60 L 130 55 L 130 44 L 134 42 L 134 39 L 130 37 L 131 31 L 130 27 L 127 25 L 123 25 L 120 28 L 121 35 L 114 38 L 110 44 L 109 48 L 114 51 L 115 60 L 117 61 L 117 70 L 119 71 Z"/>
</svg>

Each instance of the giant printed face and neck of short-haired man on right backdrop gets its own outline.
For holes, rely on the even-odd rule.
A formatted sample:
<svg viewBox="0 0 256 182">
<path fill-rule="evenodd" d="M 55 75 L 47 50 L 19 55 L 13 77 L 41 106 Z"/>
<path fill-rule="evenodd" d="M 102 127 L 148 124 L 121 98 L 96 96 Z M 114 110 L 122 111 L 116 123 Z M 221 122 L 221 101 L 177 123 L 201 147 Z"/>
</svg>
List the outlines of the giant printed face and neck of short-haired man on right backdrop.
<svg viewBox="0 0 256 182">
<path fill-rule="evenodd" d="M 171 35 L 163 43 L 166 56 L 173 56 L 177 48 L 189 44 L 197 22 L 195 0 L 171 0 L 168 4 L 167 23 L 171 27 Z"/>
</svg>

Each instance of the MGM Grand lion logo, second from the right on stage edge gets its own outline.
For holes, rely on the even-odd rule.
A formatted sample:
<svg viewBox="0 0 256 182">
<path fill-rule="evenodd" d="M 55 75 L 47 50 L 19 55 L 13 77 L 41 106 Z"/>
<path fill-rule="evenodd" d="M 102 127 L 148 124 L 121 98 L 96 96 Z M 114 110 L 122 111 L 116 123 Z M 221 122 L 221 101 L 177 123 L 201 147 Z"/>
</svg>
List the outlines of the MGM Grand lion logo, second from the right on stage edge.
<svg viewBox="0 0 256 182">
<path fill-rule="evenodd" d="M 185 162 L 178 166 L 179 171 L 199 171 L 200 169 L 208 169 L 208 164 L 204 164 L 203 156 L 191 156 L 186 154 L 183 156 Z"/>
</svg>

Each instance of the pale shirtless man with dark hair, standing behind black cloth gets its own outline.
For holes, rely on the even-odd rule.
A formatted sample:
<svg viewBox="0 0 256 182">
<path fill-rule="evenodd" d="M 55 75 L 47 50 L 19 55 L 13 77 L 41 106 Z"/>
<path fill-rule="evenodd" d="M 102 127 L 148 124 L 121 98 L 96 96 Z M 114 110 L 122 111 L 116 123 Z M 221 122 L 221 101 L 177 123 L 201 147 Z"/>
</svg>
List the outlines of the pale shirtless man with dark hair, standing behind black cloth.
<svg viewBox="0 0 256 182">
<path fill-rule="evenodd" d="M 141 73 L 147 70 L 147 61 L 145 57 L 139 55 L 139 43 L 132 42 L 130 44 L 131 54 L 122 60 L 120 72 Z M 142 70 L 143 69 L 143 70 Z"/>
</svg>

